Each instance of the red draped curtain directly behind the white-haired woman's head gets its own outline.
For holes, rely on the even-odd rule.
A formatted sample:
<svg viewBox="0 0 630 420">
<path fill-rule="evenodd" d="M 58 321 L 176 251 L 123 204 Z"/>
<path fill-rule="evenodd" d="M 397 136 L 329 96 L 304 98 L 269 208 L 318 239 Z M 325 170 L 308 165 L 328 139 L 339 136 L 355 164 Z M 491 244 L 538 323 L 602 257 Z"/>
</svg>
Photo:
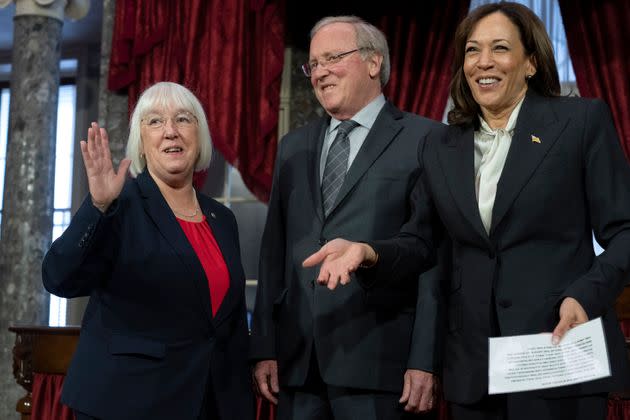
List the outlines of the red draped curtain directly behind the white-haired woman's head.
<svg viewBox="0 0 630 420">
<path fill-rule="evenodd" d="M 131 110 L 153 83 L 187 86 L 204 105 L 214 146 L 263 201 L 277 144 L 284 9 L 284 0 L 116 2 L 109 89 L 126 88 Z"/>
</svg>

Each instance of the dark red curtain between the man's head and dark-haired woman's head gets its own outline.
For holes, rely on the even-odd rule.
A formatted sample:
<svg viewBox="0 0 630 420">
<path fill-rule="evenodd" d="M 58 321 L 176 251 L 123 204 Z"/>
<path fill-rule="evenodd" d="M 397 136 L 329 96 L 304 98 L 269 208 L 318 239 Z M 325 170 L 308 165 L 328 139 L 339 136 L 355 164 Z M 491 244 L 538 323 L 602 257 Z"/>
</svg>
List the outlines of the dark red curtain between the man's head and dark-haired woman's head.
<svg viewBox="0 0 630 420">
<path fill-rule="evenodd" d="M 441 121 L 451 79 L 453 36 L 470 0 L 423 2 L 379 22 L 390 46 L 385 96 L 399 108 Z"/>
</svg>

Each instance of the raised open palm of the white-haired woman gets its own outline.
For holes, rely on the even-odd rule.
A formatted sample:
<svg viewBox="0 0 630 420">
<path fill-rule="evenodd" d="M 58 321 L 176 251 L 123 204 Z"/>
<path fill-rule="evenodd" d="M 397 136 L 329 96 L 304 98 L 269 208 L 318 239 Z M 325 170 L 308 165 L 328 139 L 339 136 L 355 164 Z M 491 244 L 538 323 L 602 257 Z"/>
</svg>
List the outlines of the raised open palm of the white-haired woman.
<svg viewBox="0 0 630 420">
<path fill-rule="evenodd" d="M 97 123 L 92 123 L 88 128 L 87 140 L 81 140 L 81 154 L 92 203 L 104 212 L 122 191 L 131 161 L 123 159 L 118 166 L 118 172 L 114 170 L 107 131 Z"/>
</svg>

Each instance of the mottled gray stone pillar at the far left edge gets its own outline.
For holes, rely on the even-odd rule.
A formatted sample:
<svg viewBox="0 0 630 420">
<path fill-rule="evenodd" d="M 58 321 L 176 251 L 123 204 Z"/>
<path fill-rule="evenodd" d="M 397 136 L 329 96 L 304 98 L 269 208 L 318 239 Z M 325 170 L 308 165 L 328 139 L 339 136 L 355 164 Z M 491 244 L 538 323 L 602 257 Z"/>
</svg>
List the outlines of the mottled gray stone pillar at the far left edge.
<svg viewBox="0 0 630 420">
<path fill-rule="evenodd" d="M 0 1 L 6 6 L 10 1 Z M 41 263 L 52 234 L 61 28 L 89 0 L 18 0 L 0 236 L 0 418 L 16 418 L 12 322 L 48 323 Z"/>
</svg>

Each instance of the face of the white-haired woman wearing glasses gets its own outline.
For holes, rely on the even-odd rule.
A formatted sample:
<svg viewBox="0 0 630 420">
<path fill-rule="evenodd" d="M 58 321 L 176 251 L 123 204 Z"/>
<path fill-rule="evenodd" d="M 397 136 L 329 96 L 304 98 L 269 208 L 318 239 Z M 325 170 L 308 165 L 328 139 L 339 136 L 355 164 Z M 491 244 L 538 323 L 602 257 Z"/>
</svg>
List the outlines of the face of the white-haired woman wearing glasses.
<svg viewBox="0 0 630 420">
<path fill-rule="evenodd" d="M 154 179 L 168 185 L 192 181 L 199 157 L 197 129 L 194 116 L 184 110 L 154 109 L 142 118 L 142 152 Z"/>
</svg>

